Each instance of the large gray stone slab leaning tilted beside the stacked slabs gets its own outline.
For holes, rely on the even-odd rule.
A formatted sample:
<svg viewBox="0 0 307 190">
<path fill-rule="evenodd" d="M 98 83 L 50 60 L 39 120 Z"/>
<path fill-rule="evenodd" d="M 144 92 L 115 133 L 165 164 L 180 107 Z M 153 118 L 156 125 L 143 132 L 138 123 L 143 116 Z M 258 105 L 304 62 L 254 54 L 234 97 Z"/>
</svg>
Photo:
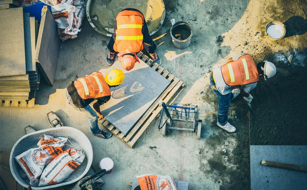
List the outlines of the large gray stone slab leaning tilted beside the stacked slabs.
<svg viewBox="0 0 307 190">
<path fill-rule="evenodd" d="M 49 85 L 53 85 L 61 40 L 49 9 L 41 17 L 35 48 L 35 61 Z"/>
</svg>

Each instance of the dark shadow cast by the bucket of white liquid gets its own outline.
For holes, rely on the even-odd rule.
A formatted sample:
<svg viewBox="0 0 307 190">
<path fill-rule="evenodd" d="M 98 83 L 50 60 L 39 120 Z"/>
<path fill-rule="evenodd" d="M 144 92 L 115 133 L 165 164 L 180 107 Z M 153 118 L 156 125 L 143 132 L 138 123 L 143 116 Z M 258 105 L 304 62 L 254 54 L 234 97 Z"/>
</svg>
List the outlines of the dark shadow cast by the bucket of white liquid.
<svg viewBox="0 0 307 190">
<path fill-rule="evenodd" d="M 307 32 L 307 19 L 300 16 L 290 17 L 283 23 L 286 26 L 286 37 L 302 35 Z"/>
</svg>

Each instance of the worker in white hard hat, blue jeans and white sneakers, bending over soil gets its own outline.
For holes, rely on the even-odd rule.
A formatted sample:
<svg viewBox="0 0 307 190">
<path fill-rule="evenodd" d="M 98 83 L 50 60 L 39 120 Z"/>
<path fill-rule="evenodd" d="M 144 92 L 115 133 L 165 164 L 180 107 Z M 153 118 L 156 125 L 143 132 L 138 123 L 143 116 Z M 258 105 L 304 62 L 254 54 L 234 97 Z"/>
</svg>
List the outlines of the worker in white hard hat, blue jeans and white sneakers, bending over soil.
<svg viewBox="0 0 307 190">
<path fill-rule="evenodd" d="M 227 122 L 227 113 L 231 101 L 239 94 L 251 105 L 253 96 L 249 94 L 253 90 L 259 77 L 271 78 L 276 74 L 276 67 L 269 61 L 260 62 L 257 66 L 251 55 L 234 56 L 224 64 L 214 69 L 210 74 L 211 88 L 219 101 L 218 122 L 222 129 L 232 133 L 235 127 Z M 239 87 L 243 87 L 240 90 Z"/>
</svg>

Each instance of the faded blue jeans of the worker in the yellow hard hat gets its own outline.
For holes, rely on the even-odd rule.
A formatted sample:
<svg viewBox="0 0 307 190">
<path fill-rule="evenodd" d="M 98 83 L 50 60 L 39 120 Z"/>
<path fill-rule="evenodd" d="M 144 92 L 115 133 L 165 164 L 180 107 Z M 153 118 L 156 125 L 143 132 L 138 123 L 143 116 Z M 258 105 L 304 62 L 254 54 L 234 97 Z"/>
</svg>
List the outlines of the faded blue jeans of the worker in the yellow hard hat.
<svg viewBox="0 0 307 190">
<path fill-rule="evenodd" d="M 97 134 L 99 133 L 100 129 L 98 127 L 98 116 L 96 114 L 96 112 L 91 108 L 90 105 L 87 105 L 84 108 L 77 108 L 70 100 L 71 97 L 68 94 L 68 91 L 66 91 L 66 97 L 68 100 L 68 103 L 75 108 L 78 111 L 81 111 L 82 114 L 84 114 L 84 116 L 87 118 L 89 124 L 90 124 L 90 129 L 92 131 L 92 133 Z"/>
</svg>

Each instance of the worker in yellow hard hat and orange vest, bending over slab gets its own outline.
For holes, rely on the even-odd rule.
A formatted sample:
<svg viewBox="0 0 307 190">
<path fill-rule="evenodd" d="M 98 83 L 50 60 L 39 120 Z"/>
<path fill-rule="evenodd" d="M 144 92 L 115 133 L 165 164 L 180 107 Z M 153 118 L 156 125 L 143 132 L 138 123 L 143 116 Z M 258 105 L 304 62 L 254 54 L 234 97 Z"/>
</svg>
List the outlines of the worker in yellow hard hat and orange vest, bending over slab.
<svg viewBox="0 0 307 190">
<path fill-rule="evenodd" d="M 111 87 L 116 87 L 124 81 L 125 75 L 120 69 L 113 69 L 105 77 L 100 72 L 78 78 L 72 81 L 66 91 L 68 103 L 76 110 L 81 111 L 88 119 L 90 129 L 93 135 L 100 138 L 110 138 L 112 134 L 108 131 L 100 130 L 98 127 L 98 118 L 103 117 L 100 112 L 100 106 L 111 97 Z M 90 107 L 90 103 L 97 100 L 93 104 L 94 110 Z"/>
</svg>

